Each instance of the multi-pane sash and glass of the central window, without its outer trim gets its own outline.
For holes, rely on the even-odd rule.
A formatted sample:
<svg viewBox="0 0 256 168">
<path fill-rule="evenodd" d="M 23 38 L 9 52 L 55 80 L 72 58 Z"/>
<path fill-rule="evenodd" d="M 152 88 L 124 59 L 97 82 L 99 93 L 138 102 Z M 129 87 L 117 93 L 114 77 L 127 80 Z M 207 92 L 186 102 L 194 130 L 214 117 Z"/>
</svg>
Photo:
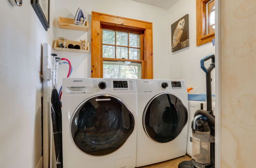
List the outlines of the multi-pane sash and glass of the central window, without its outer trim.
<svg viewBox="0 0 256 168">
<path fill-rule="evenodd" d="M 141 63 L 134 62 L 142 60 L 140 43 L 139 32 L 102 29 L 103 78 L 140 79 Z"/>
</svg>

